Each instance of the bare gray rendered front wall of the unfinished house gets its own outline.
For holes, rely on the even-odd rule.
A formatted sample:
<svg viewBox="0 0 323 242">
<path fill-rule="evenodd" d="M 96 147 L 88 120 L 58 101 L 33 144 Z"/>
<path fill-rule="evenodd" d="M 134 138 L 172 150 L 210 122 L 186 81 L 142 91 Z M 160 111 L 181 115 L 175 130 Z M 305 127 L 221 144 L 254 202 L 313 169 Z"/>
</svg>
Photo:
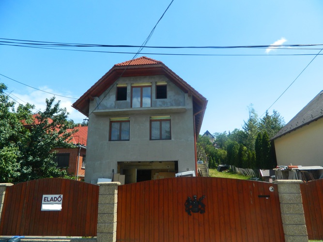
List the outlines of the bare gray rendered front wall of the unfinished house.
<svg viewBox="0 0 323 242">
<path fill-rule="evenodd" d="M 167 82 L 167 99 L 155 99 L 158 81 Z M 138 82 L 152 83 L 152 107 L 130 108 L 131 84 Z M 195 170 L 192 96 L 165 76 L 124 77 L 118 83 L 127 83 L 127 101 L 115 101 L 114 85 L 90 105 L 85 181 L 111 178 L 112 170 L 118 172 L 118 162 L 177 161 L 179 172 Z M 118 102 L 124 108 L 115 108 Z M 150 140 L 150 117 L 163 115 L 170 116 L 171 140 Z M 118 117 L 130 118 L 129 141 L 109 141 L 110 118 Z"/>
</svg>

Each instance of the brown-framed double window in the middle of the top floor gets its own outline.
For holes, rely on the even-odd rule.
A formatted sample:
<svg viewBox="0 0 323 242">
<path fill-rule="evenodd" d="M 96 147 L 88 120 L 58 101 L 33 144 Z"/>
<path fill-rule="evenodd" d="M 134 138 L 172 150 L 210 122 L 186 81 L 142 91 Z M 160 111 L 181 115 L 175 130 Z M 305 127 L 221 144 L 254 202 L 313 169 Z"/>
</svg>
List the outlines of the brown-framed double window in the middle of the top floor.
<svg viewBox="0 0 323 242">
<path fill-rule="evenodd" d="M 152 104 L 151 86 L 133 86 L 131 95 L 132 107 L 150 107 Z"/>
</svg>

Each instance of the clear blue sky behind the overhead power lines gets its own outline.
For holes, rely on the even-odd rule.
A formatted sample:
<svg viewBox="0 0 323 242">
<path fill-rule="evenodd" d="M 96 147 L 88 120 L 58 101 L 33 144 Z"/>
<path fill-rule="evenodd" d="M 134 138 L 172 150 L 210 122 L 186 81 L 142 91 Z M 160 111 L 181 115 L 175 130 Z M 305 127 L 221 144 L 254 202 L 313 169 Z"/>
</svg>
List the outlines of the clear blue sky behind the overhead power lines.
<svg viewBox="0 0 323 242">
<path fill-rule="evenodd" d="M 1 0 L 0 38 L 141 45 L 169 3 L 170 0 Z M 283 45 L 323 44 L 322 13 L 321 0 L 174 0 L 147 45 L 240 46 L 271 45 L 277 41 Z M 138 57 L 147 56 L 163 61 L 208 99 L 200 133 L 209 130 L 213 134 L 241 129 L 248 119 L 248 106 L 251 104 L 261 116 L 323 45 L 311 48 L 316 49 L 144 48 L 142 53 L 145 54 Z M 88 47 L 87 50 L 136 52 L 138 48 Z M 40 90 L 78 98 L 114 64 L 131 60 L 133 56 L 0 45 L 0 74 Z M 29 102 L 43 109 L 45 99 L 53 96 L 4 76 L 0 76 L 0 82 L 6 84 L 7 93 L 19 103 Z M 275 109 L 286 122 L 290 121 L 323 90 L 322 77 L 323 56 L 318 55 L 268 109 L 269 113 L 272 114 Z M 76 99 L 57 96 L 57 100 L 61 100 L 62 106 L 66 106 L 70 112 L 69 119 L 82 122 L 85 117 L 71 108 Z"/>
</svg>

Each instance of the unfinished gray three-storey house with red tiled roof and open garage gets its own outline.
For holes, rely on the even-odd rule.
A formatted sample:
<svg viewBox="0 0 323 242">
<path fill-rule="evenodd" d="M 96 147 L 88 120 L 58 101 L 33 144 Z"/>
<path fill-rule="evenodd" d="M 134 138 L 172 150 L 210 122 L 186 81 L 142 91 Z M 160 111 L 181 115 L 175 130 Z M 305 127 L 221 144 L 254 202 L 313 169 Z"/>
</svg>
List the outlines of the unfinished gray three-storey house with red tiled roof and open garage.
<svg viewBox="0 0 323 242">
<path fill-rule="evenodd" d="M 197 174 L 196 139 L 206 105 L 161 61 L 140 57 L 115 64 L 73 104 L 89 118 L 85 181 Z"/>
</svg>

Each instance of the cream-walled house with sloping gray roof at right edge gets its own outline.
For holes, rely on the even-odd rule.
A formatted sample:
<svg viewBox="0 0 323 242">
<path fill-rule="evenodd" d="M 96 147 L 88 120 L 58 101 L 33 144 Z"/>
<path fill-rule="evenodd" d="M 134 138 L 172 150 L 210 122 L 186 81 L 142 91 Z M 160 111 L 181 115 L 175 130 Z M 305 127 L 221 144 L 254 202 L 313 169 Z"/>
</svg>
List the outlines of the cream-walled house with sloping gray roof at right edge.
<svg viewBox="0 0 323 242">
<path fill-rule="evenodd" d="M 323 91 L 273 138 L 277 165 L 323 166 Z"/>
</svg>

